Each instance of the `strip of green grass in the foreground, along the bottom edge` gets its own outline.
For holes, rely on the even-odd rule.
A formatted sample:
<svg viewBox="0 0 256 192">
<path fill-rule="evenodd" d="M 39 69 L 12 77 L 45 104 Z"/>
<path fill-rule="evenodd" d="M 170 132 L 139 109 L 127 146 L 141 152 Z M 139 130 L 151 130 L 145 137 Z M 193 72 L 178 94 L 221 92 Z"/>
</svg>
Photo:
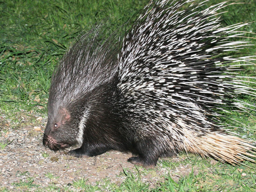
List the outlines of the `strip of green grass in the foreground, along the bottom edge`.
<svg viewBox="0 0 256 192">
<path fill-rule="evenodd" d="M 205 161 L 203 161 L 205 162 Z M 208 167 L 197 168 L 189 172 L 188 175 L 180 177 L 178 181 L 174 181 L 170 174 L 163 175 L 161 182 L 157 186 L 150 186 L 150 183 L 141 181 L 141 178 L 149 170 L 137 169 L 137 173 L 133 173 L 128 169 L 124 169 L 123 173 L 118 177 L 125 176 L 126 179 L 120 184 L 111 183 L 108 179 L 96 182 L 95 185 L 87 183 L 86 178 L 76 179 L 72 183 L 63 184 L 57 187 L 54 183 L 48 187 L 42 188 L 34 185 L 34 179 L 29 177 L 20 182 L 13 183 L 17 190 L 32 191 L 37 187 L 37 191 L 115 191 L 115 192 L 254 192 L 256 191 L 256 174 L 250 172 L 244 167 L 233 167 L 222 163 L 217 163 Z M 7 191 L 0 189 L 0 191 Z"/>
</svg>

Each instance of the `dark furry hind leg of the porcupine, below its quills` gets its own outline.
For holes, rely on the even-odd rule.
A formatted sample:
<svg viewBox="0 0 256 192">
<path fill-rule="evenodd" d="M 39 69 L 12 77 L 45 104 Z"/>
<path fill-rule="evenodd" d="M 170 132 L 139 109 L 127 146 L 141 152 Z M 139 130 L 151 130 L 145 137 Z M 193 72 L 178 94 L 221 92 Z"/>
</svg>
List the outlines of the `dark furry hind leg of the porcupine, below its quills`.
<svg viewBox="0 0 256 192">
<path fill-rule="evenodd" d="M 143 166 L 145 168 L 156 166 L 160 152 L 155 144 L 153 138 L 147 138 L 136 142 L 132 153 L 138 156 L 131 157 L 128 161 L 134 165 Z"/>
</svg>

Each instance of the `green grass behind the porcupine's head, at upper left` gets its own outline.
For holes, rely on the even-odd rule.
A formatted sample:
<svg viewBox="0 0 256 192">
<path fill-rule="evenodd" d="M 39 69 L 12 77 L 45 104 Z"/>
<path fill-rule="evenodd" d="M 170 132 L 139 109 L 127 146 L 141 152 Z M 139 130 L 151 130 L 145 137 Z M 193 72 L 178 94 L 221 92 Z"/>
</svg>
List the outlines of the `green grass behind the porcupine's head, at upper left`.
<svg viewBox="0 0 256 192">
<path fill-rule="evenodd" d="M 1 2 L 1 111 L 46 113 L 51 74 L 74 39 L 96 23 L 106 23 L 110 34 L 129 22 L 145 2 Z"/>
</svg>

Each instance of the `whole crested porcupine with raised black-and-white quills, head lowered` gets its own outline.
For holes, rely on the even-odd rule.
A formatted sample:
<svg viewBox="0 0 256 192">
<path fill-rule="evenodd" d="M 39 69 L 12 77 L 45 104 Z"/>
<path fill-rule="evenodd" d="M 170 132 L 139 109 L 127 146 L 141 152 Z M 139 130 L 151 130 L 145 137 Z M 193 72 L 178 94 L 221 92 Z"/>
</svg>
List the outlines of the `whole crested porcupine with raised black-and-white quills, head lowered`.
<svg viewBox="0 0 256 192">
<path fill-rule="evenodd" d="M 231 164 L 254 160 L 254 144 L 219 122 L 223 111 L 246 111 L 238 94 L 255 96 L 228 65 L 253 57 L 223 54 L 246 46 L 231 38 L 247 24 L 221 27 L 216 15 L 226 2 L 202 5 L 152 1 L 122 41 L 100 41 L 99 29 L 82 36 L 52 76 L 44 146 L 80 144 L 69 151 L 76 157 L 129 151 L 128 161 L 145 167 L 179 151 Z"/>
</svg>

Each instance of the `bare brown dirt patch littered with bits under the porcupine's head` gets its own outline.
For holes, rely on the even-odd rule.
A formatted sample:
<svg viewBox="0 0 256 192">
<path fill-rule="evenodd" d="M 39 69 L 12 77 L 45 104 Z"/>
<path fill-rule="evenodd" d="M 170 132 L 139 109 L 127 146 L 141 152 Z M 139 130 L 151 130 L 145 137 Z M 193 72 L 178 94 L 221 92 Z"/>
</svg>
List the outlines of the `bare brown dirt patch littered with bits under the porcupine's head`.
<svg viewBox="0 0 256 192">
<path fill-rule="evenodd" d="M 0 115 L 0 144 L 9 143 L 3 149 L 0 148 L 0 189 L 19 191 L 17 183 L 29 181 L 41 187 L 52 184 L 62 187 L 81 178 L 87 179 L 87 183 L 92 185 L 105 178 L 118 184 L 125 180 L 123 168 L 136 174 L 134 165 L 127 162 L 131 157 L 129 153 L 110 151 L 96 157 L 75 158 L 67 155 L 70 149 L 53 152 L 45 148 L 42 138 L 46 119 L 37 118 L 42 122 L 41 127 L 24 123 L 19 128 L 11 128 L 11 122 Z M 29 119 L 31 117 L 21 121 L 29 122 Z M 173 158 L 172 161 L 182 159 Z M 188 175 L 191 169 L 191 165 L 187 165 L 171 170 L 158 164 L 153 172 L 145 171 L 141 180 L 155 187 L 165 174 L 170 174 L 177 181 L 180 176 Z"/>
</svg>

